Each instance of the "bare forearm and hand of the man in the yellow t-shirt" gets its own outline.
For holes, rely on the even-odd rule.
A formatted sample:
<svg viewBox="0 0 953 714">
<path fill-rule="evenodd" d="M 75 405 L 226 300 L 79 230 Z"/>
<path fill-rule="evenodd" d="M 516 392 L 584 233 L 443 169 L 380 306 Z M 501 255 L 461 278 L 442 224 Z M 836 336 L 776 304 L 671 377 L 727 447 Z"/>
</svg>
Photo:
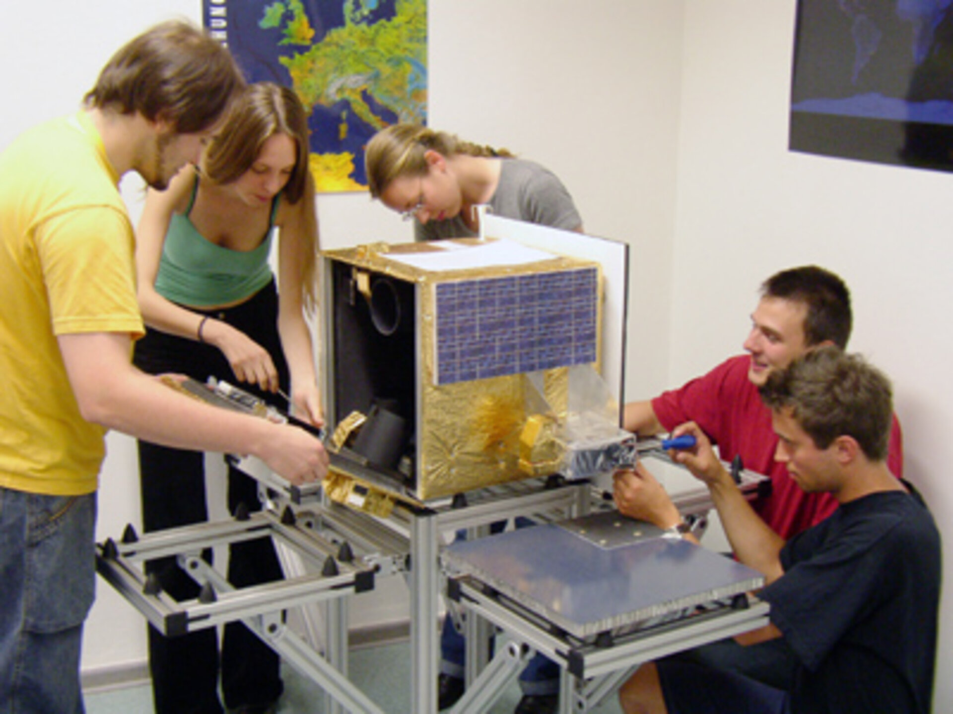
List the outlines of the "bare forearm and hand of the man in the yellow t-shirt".
<svg viewBox="0 0 953 714">
<path fill-rule="evenodd" d="M 68 334 L 58 341 L 87 421 L 165 446 L 251 454 L 293 484 L 327 473 L 324 447 L 304 429 L 210 407 L 133 367 L 127 334 Z"/>
</svg>

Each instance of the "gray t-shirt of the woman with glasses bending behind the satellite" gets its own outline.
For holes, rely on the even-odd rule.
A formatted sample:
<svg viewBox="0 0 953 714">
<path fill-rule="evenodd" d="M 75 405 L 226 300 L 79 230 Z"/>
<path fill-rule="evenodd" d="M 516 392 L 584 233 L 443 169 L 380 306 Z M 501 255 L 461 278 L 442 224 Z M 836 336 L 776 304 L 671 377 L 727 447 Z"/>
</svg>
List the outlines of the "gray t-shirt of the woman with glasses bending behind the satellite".
<svg viewBox="0 0 953 714">
<path fill-rule="evenodd" d="M 582 219 L 573 197 L 557 175 L 533 161 L 500 159 L 499 184 L 490 199 L 494 215 L 515 218 L 541 226 L 576 230 Z M 473 238 L 477 235 L 467 228 L 460 215 L 446 221 L 428 221 L 427 225 L 414 222 L 418 241 L 442 238 Z"/>
</svg>

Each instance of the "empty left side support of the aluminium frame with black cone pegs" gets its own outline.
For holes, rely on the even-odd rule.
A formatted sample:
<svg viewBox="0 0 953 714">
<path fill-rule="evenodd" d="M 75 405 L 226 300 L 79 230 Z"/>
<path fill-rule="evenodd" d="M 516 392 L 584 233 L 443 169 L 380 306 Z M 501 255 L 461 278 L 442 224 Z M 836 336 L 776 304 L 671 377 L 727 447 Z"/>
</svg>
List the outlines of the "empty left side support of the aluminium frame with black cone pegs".
<svg viewBox="0 0 953 714">
<path fill-rule="evenodd" d="M 122 543 L 108 540 L 97 545 L 96 569 L 163 635 L 176 636 L 240 621 L 321 686 L 328 700 L 326 710 L 338 712 L 343 706 L 360 714 L 383 714 L 347 677 L 346 598 L 373 589 L 378 567 L 373 560 L 359 562 L 345 555 L 335 543 L 308 532 L 307 527 L 298 524 L 291 510 L 280 517 L 265 510 L 247 518 L 171 528 L 141 538 L 127 529 L 129 535 Z M 200 557 L 205 548 L 266 535 L 274 539 L 275 545 L 291 548 L 305 561 L 317 565 L 318 571 L 236 588 Z M 203 585 L 198 599 L 172 600 L 138 565 L 171 555 L 176 556 L 197 584 Z M 324 656 L 291 631 L 282 616 L 289 607 L 319 603 L 328 612 L 329 637 Z"/>
</svg>

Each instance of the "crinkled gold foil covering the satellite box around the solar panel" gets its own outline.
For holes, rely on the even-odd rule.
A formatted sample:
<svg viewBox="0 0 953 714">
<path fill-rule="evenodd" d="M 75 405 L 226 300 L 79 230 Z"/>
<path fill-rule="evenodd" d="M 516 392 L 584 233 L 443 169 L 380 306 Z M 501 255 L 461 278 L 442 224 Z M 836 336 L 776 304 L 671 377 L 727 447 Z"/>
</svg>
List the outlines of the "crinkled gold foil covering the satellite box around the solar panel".
<svg viewBox="0 0 953 714">
<path fill-rule="evenodd" d="M 479 239 L 459 239 L 461 246 L 480 245 Z M 428 271 L 393 260 L 395 254 L 433 251 L 426 243 L 361 246 L 324 251 L 326 259 L 383 274 L 416 285 L 417 393 L 416 496 L 423 500 L 450 496 L 483 486 L 492 486 L 529 476 L 544 476 L 559 464 L 558 441 L 552 428 L 540 429 L 533 444 L 526 444 L 527 424 L 539 420 L 555 424 L 568 408 L 569 371 L 565 367 L 544 372 L 543 391 L 551 411 L 528 413 L 529 390 L 525 374 L 507 375 L 436 385 L 436 286 L 443 282 L 478 280 L 507 275 L 597 268 L 597 263 L 556 256 L 517 266 L 493 266 L 462 270 Z M 601 285 L 601 270 L 599 281 Z M 598 335 L 601 332 L 601 300 L 597 301 Z M 597 352 L 598 354 L 598 352 Z M 332 367 L 334 368 L 334 367 Z M 530 430 L 534 427 L 531 425 Z M 521 439 L 523 442 L 521 442 Z"/>
</svg>

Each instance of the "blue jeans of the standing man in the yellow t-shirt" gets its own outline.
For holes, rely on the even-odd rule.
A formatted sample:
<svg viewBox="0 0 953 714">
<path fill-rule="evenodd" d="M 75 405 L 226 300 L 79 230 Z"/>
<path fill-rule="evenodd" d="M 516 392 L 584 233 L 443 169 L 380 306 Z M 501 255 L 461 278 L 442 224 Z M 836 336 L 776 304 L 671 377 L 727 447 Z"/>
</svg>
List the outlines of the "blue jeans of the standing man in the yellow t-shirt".
<svg viewBox="0 0 953 714">
<path fill-rule="evenodd" d="M 82 714 L 96 494 L 0 488 L 0 714 Z"/>
</svg>

